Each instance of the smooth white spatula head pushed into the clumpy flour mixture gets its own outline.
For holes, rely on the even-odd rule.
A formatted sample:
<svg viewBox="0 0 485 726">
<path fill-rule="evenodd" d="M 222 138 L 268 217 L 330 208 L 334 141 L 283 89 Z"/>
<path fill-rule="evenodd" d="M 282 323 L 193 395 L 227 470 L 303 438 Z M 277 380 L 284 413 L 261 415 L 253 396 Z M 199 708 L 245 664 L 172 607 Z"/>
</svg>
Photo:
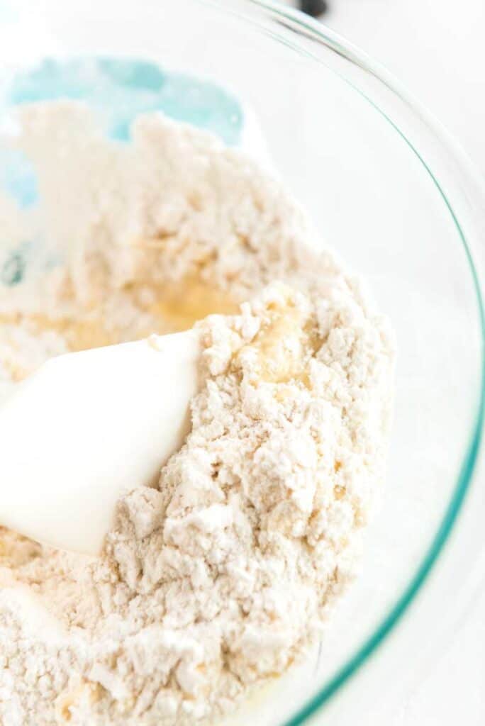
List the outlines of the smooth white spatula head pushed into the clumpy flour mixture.
<svg viewBox="0 0 485 726">
<path fill-rule="evenodd" d="M 150 484 L 189 428 L 194 331 L 58 356 L 0 407 L 0 524 L 97 554 L 117 499 Z"/>
</svg>

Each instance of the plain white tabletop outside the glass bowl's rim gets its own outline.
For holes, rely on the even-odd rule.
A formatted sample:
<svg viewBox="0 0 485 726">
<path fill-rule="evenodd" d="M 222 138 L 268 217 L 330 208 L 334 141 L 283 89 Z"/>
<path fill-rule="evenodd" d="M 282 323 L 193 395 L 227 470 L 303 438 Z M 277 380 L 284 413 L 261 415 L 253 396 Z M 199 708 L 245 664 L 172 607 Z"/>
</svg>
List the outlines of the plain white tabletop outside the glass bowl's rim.
<svg viewBox="0 0 485 726">
<path fill-rule="evenodd" d="M 485 0 L 329 0 L 329 6 L 325 24 L 404 82 L 485 176 Z M 482 481 L 483 475 L 482 466 Z M 392 705 L 391 721 L 373 726 L 484 726 L 485 571 L 441 656 Z M 359 726 L 367 726 L 362 715 Z"/>
</svg>

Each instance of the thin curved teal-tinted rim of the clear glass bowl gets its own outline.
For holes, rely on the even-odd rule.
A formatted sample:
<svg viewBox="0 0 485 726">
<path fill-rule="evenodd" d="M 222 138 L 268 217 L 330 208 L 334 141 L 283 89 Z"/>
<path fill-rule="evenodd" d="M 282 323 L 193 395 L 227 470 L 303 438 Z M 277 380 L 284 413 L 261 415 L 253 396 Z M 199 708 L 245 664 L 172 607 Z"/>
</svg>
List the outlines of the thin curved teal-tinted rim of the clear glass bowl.
<svg viewBox="0 0 485 726">
<path fill-rule="evenodd" d="M 210 4 L 212 6 L 221 8 L 220 0 L 202 1 L 205 2 L 205 4 Z M 399 99 L 401 99 L 404 104 L 413 111 L 413 113 L 417 114 L 420 117 L 420 120 L 423 121 L 426 126 L 428 126 L 428 129 L 431 129 L 431 131 L 433 131 L 436 136 L 444 139 L 442 142 L 444 143 L 444 146 L 447 147 L 447 150 L 451 151 L 452 155 L 458 158 L 462 167 L 465 168 L 468 176 L 470 176 L 470 178 L 473 178 L 478 189 L 482 189 L 483 184 L 480 181 L 481 178 L 478 176 L 475 167 L 468 159 L 467 155 L 465 155 L 465 152 L 463 152 L 460 144 L 455 141 L 453 136 L 448 133 L 448 131 L 444 128 L 444 126 L 442 126 L 441 123 L 439 123 L 439 121 L 436 121 L 436 119 L 433 118 L 433 115 L 431 115 L 431 113 L 425 110 L 423 105 L 417 102 L 417 100 L 414 99 L 412 95 L 404 89 L 404 86 L 402 86 L 399 81 L 396 81 L 396 79 L 394 79 L 394 76 L 392 76 L 392 74 L 389 73 L 389 71 L 386 70 L 383 65 L 380 65 L 378 62 L 371 60 L 371 58 L 366 53 L 358 49 L 349 41 L 346 41 L 344 38 L 339 36 L 338 33 L 334 33 L 332 30 L 325 28 L 325 26 L 321 25 L 316 20 L 313 20 L 306 15 L 303 15 L 303 13 L 298 12 L 297 10 L 281 7 L 281 5 L 275 4 L 271 0 L 245 1 L 248 4 L 253 5 L 259 9 L 263 9 L 265 11 L 269 10 L 270 12 L 274 13 L 274 15 L 278 15 L 285 20 L 290 20 L 291 23 L 293 23 L 293 25 L 303 31 L 303 33 L 311 33 L 312 38 L 318 40 L 322 44 L 325 44 L 325 46 L 330 47 L 330 49 L 333 49 L 335 52 L 338 52 L 338 54 L 346 58 L 346 60 L 349 60 L 350 62 L 358 65 L 359 68 L 362 68 L 362 70 L 364 70 L 365 72 L 370 73 L 378 81 L 380 81 L 380 83 L 384 83 L 384 85 L 394 94 L 394 96 L 399 97 Z M 226 7 L 225 10 L 227 11 L 228 8 Z M 229 12 L 231 11 L 229 10 Z M 248 20 L 248 18 L 245 18 L 245 20 Z M 273 37 L 278 41 L 285 43 L 283 38 L 279 38 L 276 35 L 273 35 Z M 298 48 L 295 49 L 300 50 Z M 314 60 L 319 60 L 313 54 L 306 54 L 309 57 L 313 57 Z M 416 147 L 412 144 L 412 142 L 409 141 L 409 139 L 407 139 L 407 136 L 405 136 L 405 134 L 399 129 L 399 126 L 397 126 L 396 123 L 394 123 L 394 121 L 392 121 L 391 118 L 389 118 L 389 116 L 385 112 L 383 112 L 383 110 L 380 109 L 380 107 L 378 107 L 378 105 L 374 101 L 372 101 L 372 99 L 370 99 L 370 97 L 367 97 L 367 95 L 365 95 L 359 88 L 354 86 L 354 84 L 351 83 L 351 81 L 349 81 L 348 79 L 343 78 L 343 80 L 345 80 L 346 83 L 350 83 L 354 87 L 354 89 L 367 100 L 367 102 L 372 104 L 372 106 L 375 107 L 375 109 L 381 115 L 383 115 L 384 118 L 386 118 L 386 121 L 391 123 L 396 132 L 408 145 L 409 149 L 412 150 L 413 153 L 415 153 L 417 158 L 423 164 L 425 171 L 427 171 L 428 174 L 431 176 L 433 184 L 435 184 L 436 189 L 438 189 L 439 195 L 441 195 L 444 204 L 447 206 L 449 214 L 452 217 L 452 221 L 455 224 L 460 240 L 462 242 L 465 256 L 468 260 L 471 282 L 476 295 L 478 324 L 481 330 L 481 376 L 480 382 L 478 384 L 479 390 L 477 397 L 476 415 L 474 417 L 470 437 L 468 440 L 468 446 L 465 456 L 462 459 L 462 465 L 460 466 L 460 472 L 457 477 L 457 482 L 455 484 L 455 489 L 452 494 L 452 499 L 450 500 L 447 510 L 445 511 L 444 516 L 441 519 L 436 534 L 431 540 L 431 544 L 429 545 L 427 552 L 421 560 L 420 565 L 417 567 L 415 575 L 412 577 L 411 582 L 409 582 L 407 588 L 398 598 L 398 600 L 388 612 L 386 617 L 380 622 L 372 635 L 364 641 L 364 643 L 358 650 L 356 650 L 354 655 L 349 658 L 349 661 L 347 661 L 347 663 L 343 665 L 341 669 L 339 669 L 333 675 L 333 677 L 330 678 L 327 684 L 321 690 L 319 690 L 317 695 L 311 698 L 301 709 L 296 712 L 296 714 L 293 715 L 290 720 L 286 721 L 283 726 L 301 726 L 301 724 L 303 724 L 306 719 L 314 716 L 316 712 L 321 709 L 322 706 L 324 706 L 324 704 L 332 696 L 334 696 L 335 693 L 337 693 L 337 691 L 340 690 L 344 684 L 349 682 L 350 678 L 359 671 L 361 666 L 367 661 L 372 653 L 375 652 L 378 646 L 383 644 L 383 642 L 386 640 L 386 637 L 390 635 L 391 631 L 402 619 L 402 616 L 404 616 L 404 613 L 409 608 L 409 605 L 412 603 L 413 600 L 415 600 L 417 593 L 421 590 L 421 587 L 423 587 L 423 584 L 428 579 L 428 576 L 431 573 L 433 566 L 436 565 L 441 550 L 443 550 L 444 544 L 449 539 L 449 535 L 452 532 L 460 510 L 462 509 L 463 502 L 465 501 L 465 497 L 468 494 L 468 490 L 470 489 L 473 473 L 476 469 L 476 462 L 478 460 L 478 452 L 480 451 L 481 447 L 485 423 L 485 308 L 484 297 L 481 290 L 481 281 L 479 279 L 477 266 L 473 261 L 473 254 L 470 250 L 470 245 L 468 244 L 465 233 L 462 230 L 462 227 L 460 225 L 460 222 L 458 221 L 452 204 L 450 203 L 447 195 L 444 193 L 444 190 L 441 188 L 436 176 L 434 176 L 433 172 L 431 171 L 431 168 L 417 151 Z"/>
</svg>

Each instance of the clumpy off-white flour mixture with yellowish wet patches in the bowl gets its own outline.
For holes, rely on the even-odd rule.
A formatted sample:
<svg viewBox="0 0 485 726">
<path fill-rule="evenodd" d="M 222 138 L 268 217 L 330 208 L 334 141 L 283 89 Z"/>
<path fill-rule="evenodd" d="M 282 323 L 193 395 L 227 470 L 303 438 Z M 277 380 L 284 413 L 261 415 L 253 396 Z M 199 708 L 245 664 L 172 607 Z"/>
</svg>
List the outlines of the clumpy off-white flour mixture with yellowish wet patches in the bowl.
<svg viewBox="0 0 485 726">
<path fill-rule="evenodd" d="M 142 115 L 121 144 L 76 102 L 17 122 L 41 203 L 2 198 L 0 225 L 45 264 L 1 287 L 1 395 L 50 356 L 192 325 L 203 383 L 99 558 L 0 529 L 0 722 L 216 722 L 305 656 L 354 577 L 386 322 L 280 183 L 210 134 Z"/>
</svg>

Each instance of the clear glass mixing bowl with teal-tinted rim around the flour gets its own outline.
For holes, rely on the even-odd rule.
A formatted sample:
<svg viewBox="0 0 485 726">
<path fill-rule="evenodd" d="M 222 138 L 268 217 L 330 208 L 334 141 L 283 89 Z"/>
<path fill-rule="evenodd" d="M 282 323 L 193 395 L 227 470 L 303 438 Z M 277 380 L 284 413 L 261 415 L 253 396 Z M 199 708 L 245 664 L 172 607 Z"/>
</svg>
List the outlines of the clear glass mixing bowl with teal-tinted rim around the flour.
<svg viewBox="0 0 485 726">
<path fill-rule="evenodd" d="M 478 483 L 470 487 L 484 416 L 484 311 L 471 252 L 484 239 L 480 181 L 383 68 L 270 2 L 98 0 L 88 17 L 80 0 L 35 8 L 2 0 L 0 24 L 7 74 L 44 57 L 136 57 L 231 89 L 253 109 L 275 173 L 322 242 L 364 275 L 391 317 L 394 433 L 362 576 L 318 652 L 231 722 L 296 726 L 318 717 L 335 726 L 354 713 L 368 717 L 384 691 L 417 672 L 481 552 L 485 502 Z M 460 546 L 468 550 L 431 605 L 410 608 L 418 592 L 424 603 L 423 592 L 433 591 L 428 574 L 465 497 L 468 540 Z M 417 621 L 420 630 L 411 627 Z"/>
</svg>

